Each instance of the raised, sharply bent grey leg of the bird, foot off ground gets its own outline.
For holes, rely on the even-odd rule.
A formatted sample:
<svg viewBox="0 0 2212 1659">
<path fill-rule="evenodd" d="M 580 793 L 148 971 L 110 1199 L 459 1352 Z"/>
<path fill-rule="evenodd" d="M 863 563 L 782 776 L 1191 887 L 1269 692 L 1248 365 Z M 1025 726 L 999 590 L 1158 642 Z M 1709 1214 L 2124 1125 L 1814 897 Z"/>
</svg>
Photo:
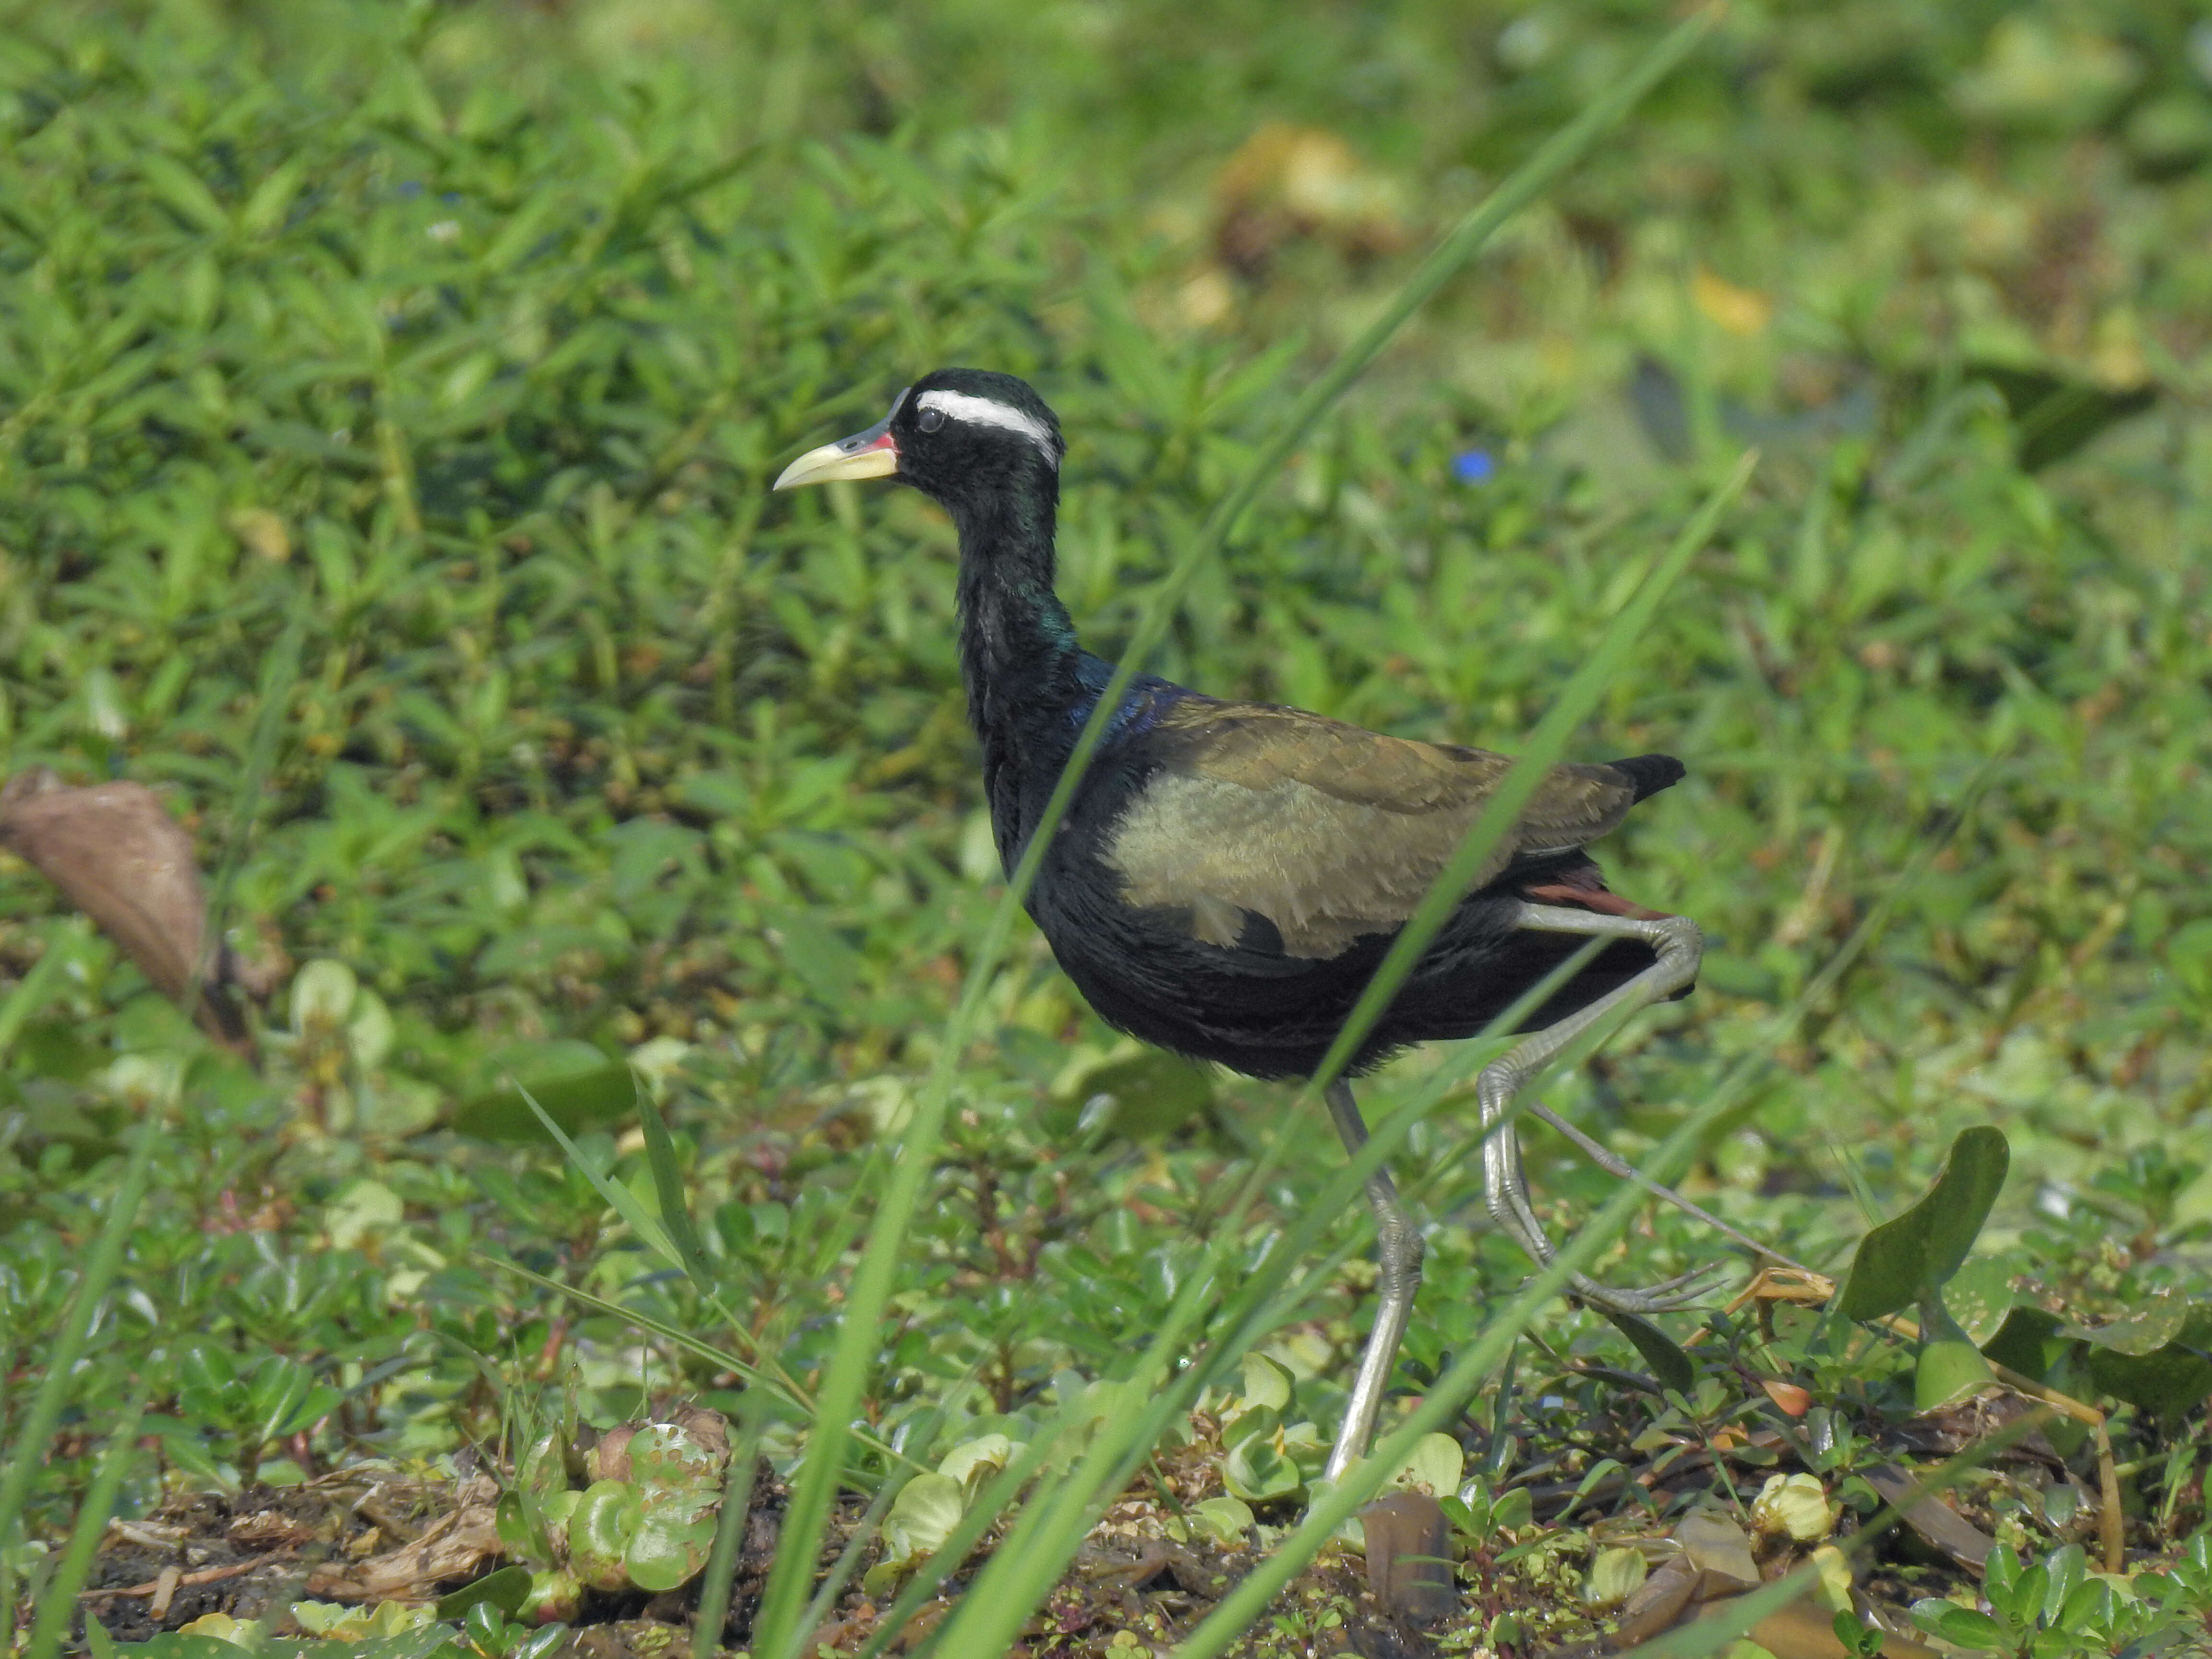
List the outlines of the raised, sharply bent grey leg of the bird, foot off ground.
<svg viewBox="0 0 2212 1659">
<path fill-rule="evenodd" d="M 1628 980 L 1628 984 L 1608 991 L 1590 1006 L 1571 1013 L 1566 1020 L 1528 1035 L 1513 1051 L 1484 1066 L 1482 1075 L 1475 1079 L 1475 1102 L 1482 1108 L 1482 1126 L 1489 1130 L 1489 1139 L 1482 1144 L 1484 1201 L 1500 1230 L 1504 1230 L 1542 1265 L 1553 1259 L 1551 1239 L 1544 1237 L 1544 1228 L 1535 1219 L 1535 1210 L 1528 1208 L 1528 1181 L 1520 1166 L 1520 1137 L 1513 1133 L 1511 1124 L 1500 1128 L 1500 1121 L 1513 1104 L 1513 1097 L 1522 1091 L 1522 1084 L 1555 1060 L 1584 1031 L 1621 1009 L 1641 1009 L 1648 1002 L 1659 1002 L 1697 980 L 1697 964 L 1703 956 L 1705 938 L 1697 931 L 1697 922 L 1688 916 L 1659 916 L 1641 920 L 1635 916 L 1599 916 L 1568 905 L 1515 905 L 1511 922 L 1513 927 L 1524 927 L 1537 933 L 1628 938 L 1648 945 L 1659 958 L 1639 975 Z M 1681 1307 L 1690 1301 L 1697 1294 L 1697 1281 L 1703 1276 L 1703 1272 L 1683 1274 L 1681 1279 L 1670 1279 L 1668 1283 L 1650 1290 L 1610 1290 L 1599 1285 L 1595 1279 L 1586 1279 L 1584 1274 L 1575 1274 L 1571 1283 L 1577 1296 L 1597 1307 L 1619 1314 L 1657 1314 L 1668 1307 Z"/>
</svg>

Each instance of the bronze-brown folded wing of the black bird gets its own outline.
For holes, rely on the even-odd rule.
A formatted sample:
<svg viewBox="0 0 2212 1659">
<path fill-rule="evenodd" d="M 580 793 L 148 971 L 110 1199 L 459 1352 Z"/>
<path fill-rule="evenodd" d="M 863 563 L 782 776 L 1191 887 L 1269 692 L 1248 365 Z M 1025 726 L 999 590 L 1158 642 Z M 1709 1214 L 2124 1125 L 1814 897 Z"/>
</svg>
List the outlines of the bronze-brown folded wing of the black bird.
<svg viewBox="0 0 2212 1659">
<path fill-rule="evenodd" d="M 1252 911 L 1305 958 L 1402 925 L 1511 768 L 1489 750 L 1206 697 L 1168 710 L 1146 745 L 1159 770 L 1106 847 L 1121 896 L 1188 909 L 1210 945 L 1234 945 Z M 1471 885 L 1520 854 L 1595 841 L 1635 799 L 1613 768 L 1553 768 Z"/>
</svg>

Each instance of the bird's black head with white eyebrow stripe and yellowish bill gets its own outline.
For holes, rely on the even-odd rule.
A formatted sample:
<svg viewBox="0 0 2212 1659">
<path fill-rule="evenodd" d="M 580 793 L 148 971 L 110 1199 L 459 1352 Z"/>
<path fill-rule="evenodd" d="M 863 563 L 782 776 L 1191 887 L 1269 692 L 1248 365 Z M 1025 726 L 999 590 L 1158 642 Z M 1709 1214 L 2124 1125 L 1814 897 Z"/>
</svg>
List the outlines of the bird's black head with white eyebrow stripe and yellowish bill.
<svg viewBox="0 0 2212 1659">
<path fill-rule="evenodd" d="M 945 507 L 1020 489 L 1057 491 L 1060 420 L 1026 380 L 938 369 L 909 385 L 867 431 L 810 449 L 776 489 L 832 478 L 896 478 Z"/>
</svg>

